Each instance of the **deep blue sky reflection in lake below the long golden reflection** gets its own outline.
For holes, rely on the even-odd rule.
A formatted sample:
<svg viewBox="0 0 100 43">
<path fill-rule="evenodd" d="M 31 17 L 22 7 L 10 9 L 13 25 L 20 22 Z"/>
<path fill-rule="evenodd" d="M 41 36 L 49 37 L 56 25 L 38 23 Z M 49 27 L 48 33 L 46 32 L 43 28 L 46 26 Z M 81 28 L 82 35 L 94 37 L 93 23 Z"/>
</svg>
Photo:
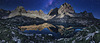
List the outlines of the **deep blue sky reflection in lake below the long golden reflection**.
<svg viewBox="0 0 100 43">
<path fill-rule="evenodd" d="M 48 28 L 43 29 L 42 31 L 39 30 L 25 30 L 25 33 L 32 33 L 32 34 L 52 34 L 54 38 L 60 38 L 61 34 L 59 32 L 51 32 Z"/>
</svg>

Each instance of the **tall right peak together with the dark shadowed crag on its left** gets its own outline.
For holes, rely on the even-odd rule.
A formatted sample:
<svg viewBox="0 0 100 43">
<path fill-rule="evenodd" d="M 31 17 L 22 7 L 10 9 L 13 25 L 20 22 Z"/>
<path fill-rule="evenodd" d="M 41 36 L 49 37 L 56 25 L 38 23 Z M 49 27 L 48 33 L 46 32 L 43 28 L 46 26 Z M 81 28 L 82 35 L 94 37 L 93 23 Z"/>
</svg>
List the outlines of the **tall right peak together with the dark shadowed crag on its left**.
<svg viewBox="0 0 100 43">
<path fill-rule="evenodd" d="M 70 17 L 74 17 L 74 14 L 75 11 L 74 9 L 71 7 L 70 4 L 68 3 L 64 3 L 63 5 L 61 5 L 60 8 L 55 8 L 55 9 L 52 9 L 50 12 L 49 12 L 49 15 L 56 15 L 56 18 L 63 18 L 65 15 L 68 15 Z"/>
</svg>

